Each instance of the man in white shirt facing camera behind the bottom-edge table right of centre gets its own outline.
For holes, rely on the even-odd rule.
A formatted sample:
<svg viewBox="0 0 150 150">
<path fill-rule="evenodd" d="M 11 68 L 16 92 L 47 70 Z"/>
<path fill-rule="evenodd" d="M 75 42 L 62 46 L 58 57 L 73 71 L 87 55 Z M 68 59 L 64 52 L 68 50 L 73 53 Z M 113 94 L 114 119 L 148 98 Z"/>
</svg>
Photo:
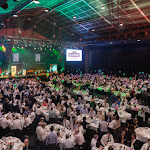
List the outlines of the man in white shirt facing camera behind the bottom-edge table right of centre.
<svg viewBox="0 0 150 150">
<path fill-rule="evenodd" d="M 103 146 L 106 146 L 108 143 L 114 143 L 114 138 L 110 131 L 107 134 L 103 135 L 101 138 L 101 143 Z"/>
</svg>

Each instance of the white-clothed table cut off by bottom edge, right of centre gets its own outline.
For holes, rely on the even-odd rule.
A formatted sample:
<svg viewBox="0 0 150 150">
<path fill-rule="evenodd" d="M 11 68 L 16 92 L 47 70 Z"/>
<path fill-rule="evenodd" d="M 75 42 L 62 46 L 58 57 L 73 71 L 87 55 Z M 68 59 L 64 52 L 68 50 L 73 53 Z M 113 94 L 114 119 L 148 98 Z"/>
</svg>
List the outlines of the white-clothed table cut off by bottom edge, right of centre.
<svg viewBox="0 0 150 150">
<path fill-rule="evenodd" d="M 111 144 L 107 144 L 105 147 L 104 147 L 104 150 L 108 150 L 108 148 L 112 146 L 113 147 L 113 150 L 131 150 L 130 147 L 126 146 L 126 145 L 123 145 L 123 144 L 120 144 L 120 143 L 111 143 Z"/>
</svg>

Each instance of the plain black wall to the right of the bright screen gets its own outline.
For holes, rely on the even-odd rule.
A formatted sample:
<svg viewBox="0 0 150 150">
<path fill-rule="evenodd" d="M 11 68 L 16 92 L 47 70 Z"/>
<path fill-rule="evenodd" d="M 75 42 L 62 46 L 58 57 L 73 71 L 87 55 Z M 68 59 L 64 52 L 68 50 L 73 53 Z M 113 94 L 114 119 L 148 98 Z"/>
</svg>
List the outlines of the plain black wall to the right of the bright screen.
<svg viewBox="0 0 150 150">
<path fill-rule="evenodd" d="M 150 73 L 150 43 L 91 46 L 90 70 L 105 69 L 108 72 Z"/>
</svg>

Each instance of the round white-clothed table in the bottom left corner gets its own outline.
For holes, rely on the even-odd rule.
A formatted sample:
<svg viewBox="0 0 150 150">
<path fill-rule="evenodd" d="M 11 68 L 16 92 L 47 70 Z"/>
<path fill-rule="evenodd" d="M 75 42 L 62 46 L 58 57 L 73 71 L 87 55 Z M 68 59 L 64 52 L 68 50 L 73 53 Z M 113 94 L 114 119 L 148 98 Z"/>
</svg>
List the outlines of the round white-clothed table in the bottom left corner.
<svg viewBox="0 0 150 150">
<path fill-rule="evenodd" d="M 12 150 L 23 150 L 24 143 L 20 139 L 12 136 L 0 139 L 0 150 L 8 150 L 10 143 L 13 145 Z"/>
</svg>

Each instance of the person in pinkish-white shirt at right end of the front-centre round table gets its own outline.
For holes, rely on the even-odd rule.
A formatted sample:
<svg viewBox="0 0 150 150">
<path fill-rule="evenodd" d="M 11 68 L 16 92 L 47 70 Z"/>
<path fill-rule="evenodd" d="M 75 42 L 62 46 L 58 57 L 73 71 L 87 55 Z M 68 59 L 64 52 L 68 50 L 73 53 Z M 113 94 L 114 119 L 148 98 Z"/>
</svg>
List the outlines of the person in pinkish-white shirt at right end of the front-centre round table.
<svg viewBox="0 0 150 150">
<path fill-rule="evenodd" d="M 81 145 L 85 142 L 84 136 L 82 135 L 82 133 L 79 132 L 79 129 L 76 129 L 76 130 L 75 130 L 75 138 L 74 138 L 74 141 L 75 141 L 79 146 L 81 146 Z"/>
</svg>

